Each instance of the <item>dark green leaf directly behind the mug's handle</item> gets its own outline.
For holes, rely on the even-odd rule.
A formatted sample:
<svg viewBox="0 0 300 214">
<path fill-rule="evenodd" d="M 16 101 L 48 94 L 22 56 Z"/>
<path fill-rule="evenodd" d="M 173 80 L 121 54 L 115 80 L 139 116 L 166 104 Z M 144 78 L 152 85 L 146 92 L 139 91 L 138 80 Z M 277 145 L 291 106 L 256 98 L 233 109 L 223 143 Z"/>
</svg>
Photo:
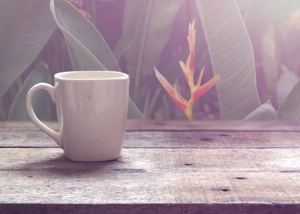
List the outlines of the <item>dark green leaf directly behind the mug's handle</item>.
<svg viewBox="0 0 300 214">
<path fill-rule="evenodd" d="M 50 84 L 51 77 L 48 65 L 40 61 L 31 71 L 18 90 L 8 113 L 8 120 L 30 120 L 26 109 L 26 96 L 29 89 L 37 83 Z M 40 120 L 46 120 L 50 113 L 51 96 L 45 90 L 39 90 L 32 99 L 32 108 Z"/>
</svg>

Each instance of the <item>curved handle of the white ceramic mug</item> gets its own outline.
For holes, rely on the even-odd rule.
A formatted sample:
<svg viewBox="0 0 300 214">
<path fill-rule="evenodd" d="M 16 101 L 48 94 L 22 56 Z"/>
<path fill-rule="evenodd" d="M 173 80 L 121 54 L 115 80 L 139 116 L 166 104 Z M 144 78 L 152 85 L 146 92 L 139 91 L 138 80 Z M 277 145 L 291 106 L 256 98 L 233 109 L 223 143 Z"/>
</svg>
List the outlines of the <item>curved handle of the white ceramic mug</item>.
<svg viewBox="0 0 300 214">
<path fill-rule="evenodd" d="M 36 91 L 40 90 L 40 89 L 44 89 L 46 90 L 50 95 L 51 98 L 53 100 L 53 102 L 55 103 L 55 89 L 52 85 L 49 85 L 47 83 L 38 83 L 36 85 L 34 85 L 32 88 L 30 88 L 30 90 L 27 93 L 26 96 L 26 108 L 27 108 L 27 112 L 29 114 L 30 119 L 32 120 L 32 122 L 44 133 L 46 133 L 48 136 L 50 136 L 56 143 L 57 145 L 62 149 L 62 142 L 60 139 L 60 134 L 59 132 L 56 132 L 52 129 L 50 129 L 49 127 L 47 127 L 45 124 L 43 124 L 35 115 L 33 108 L 32 108 L 32 98 L 35 94 Z"/>
</svg>

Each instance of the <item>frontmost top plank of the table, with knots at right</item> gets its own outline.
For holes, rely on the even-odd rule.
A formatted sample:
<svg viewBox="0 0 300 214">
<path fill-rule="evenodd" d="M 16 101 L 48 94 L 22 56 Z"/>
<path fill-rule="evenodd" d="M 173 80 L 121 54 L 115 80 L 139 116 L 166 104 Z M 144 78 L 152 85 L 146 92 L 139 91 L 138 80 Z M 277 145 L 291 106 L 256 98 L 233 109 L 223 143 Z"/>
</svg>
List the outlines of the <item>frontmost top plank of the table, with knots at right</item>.
<svg viewBox="0 0 300 214">
<path fill-rule="evenodd" d="M 0 204 L 300 204 L 298 173 L 57 174 L 3 172 Z"/>
</svg>

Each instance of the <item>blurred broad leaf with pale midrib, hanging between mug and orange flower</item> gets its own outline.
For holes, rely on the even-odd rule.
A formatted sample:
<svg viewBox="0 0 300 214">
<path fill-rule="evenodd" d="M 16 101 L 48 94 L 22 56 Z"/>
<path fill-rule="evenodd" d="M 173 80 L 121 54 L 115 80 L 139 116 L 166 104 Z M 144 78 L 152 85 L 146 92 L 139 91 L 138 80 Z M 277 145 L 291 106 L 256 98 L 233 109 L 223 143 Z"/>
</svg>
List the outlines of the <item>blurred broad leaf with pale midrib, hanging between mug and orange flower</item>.
<svg viewBox="0 0 300 214">
<path fill-rule="evenodd" d="M 127 72 L 134 76 L 134 101 L 139 78 L 153 73 L 169 40 L 171 26 L 182 0 L 126 0 L 123 35 L 114 49 L 124 52 Z"/>
</svg>

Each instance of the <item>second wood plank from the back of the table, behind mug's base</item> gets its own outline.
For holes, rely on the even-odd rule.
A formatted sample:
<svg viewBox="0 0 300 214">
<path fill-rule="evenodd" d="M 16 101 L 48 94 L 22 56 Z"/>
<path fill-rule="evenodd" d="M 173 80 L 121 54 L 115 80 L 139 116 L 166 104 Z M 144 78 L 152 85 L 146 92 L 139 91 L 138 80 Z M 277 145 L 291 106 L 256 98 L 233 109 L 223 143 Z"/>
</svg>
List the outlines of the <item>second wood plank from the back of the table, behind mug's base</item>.
<svg viewBox="0 0 300 214">
<path fill-rule="evenodd" d="M 0 147 L 57 147 L 43 132 L 0 132 Z M 297 132 L 136 131 L 124 148 L 300 148 Z"/>
</svg>

